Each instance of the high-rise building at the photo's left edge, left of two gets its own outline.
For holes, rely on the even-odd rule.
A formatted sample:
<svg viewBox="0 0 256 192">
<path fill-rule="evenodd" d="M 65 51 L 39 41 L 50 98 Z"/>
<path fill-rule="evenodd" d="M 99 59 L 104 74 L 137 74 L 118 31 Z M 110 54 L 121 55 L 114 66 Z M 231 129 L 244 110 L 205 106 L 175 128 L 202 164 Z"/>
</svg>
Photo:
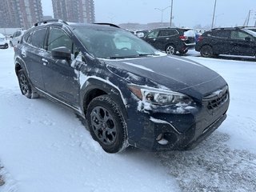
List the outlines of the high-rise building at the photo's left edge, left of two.
<svg viewBox="0 0 256 192">
<path fill-rule="evenodd" d="M 0 27 L 30 28 L 42 20 L 41 0 L 1 0 Z"/>
</svg>

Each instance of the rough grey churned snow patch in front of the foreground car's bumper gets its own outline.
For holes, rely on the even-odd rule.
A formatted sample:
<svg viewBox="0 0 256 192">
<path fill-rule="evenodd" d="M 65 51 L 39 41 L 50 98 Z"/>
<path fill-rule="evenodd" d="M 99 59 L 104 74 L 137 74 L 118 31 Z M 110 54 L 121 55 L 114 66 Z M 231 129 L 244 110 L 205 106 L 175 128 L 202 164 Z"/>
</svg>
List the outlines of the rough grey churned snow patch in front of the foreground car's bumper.
<svg viewBox="0 0 256 192">
<path fill-rule="evenodd" d="M 194 150 L 156 153 L 183 191 L 256 191 L 256 154 L 226 145 L 215 131 Z"/>
</svg>

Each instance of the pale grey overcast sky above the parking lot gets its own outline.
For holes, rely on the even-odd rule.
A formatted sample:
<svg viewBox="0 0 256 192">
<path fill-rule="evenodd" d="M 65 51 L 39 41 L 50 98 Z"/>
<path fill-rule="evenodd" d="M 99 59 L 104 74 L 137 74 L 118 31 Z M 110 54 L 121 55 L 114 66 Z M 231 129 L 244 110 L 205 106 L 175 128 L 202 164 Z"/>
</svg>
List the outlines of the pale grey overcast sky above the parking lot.
<svg viewBox="0 0 256 192">
<path fill-rule="evenodd" d="M 163 22 L 170 22 L 170 0 L 94 0 L 94 3 L 96 22 L 161 22 L 161 15 Z M 44 15 L 53 15 L 51 0 L 42 0 L 42 8 Z M 210 25 L 213 10 L 214 0 L 174 0 L 173 22 L 175 26 Z M 249 10 L 252 10 L 250 26 L 254 26 L 256 0 L 217 0 L 215 26 L 242 26 Z"/>
</svg>

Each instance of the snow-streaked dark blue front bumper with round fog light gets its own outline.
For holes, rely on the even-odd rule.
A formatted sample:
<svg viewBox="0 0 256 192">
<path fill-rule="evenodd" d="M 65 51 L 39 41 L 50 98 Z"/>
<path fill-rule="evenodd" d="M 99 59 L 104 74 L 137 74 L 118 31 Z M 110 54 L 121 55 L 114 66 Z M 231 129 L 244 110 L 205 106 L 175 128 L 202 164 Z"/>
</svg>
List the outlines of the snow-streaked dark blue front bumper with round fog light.
<svg viewBox="0 0 256 192">
<path fill-rule="evenodd" d="M 190 150 L 214 132 L 226 119 L 229 99 L 214 110 L 202 106 L 186 114 L 147 113 L 128 110 L 131 146 L 144 150 Z"/>
</svg>

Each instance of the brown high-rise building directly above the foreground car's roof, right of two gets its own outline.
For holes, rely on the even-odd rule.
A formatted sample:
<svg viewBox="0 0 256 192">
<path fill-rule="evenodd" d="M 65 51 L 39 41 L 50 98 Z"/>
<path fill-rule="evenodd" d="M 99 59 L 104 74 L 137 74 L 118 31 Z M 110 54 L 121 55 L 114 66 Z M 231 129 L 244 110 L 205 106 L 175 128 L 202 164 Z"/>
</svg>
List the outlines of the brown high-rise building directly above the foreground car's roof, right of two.
<svg viewBox="0 0 256 192">
<path fill-rule="evenodd" d="M 94 0 L 52 0 L 54 18 L 67 22 L 95 22 Z"/>
</svg>

